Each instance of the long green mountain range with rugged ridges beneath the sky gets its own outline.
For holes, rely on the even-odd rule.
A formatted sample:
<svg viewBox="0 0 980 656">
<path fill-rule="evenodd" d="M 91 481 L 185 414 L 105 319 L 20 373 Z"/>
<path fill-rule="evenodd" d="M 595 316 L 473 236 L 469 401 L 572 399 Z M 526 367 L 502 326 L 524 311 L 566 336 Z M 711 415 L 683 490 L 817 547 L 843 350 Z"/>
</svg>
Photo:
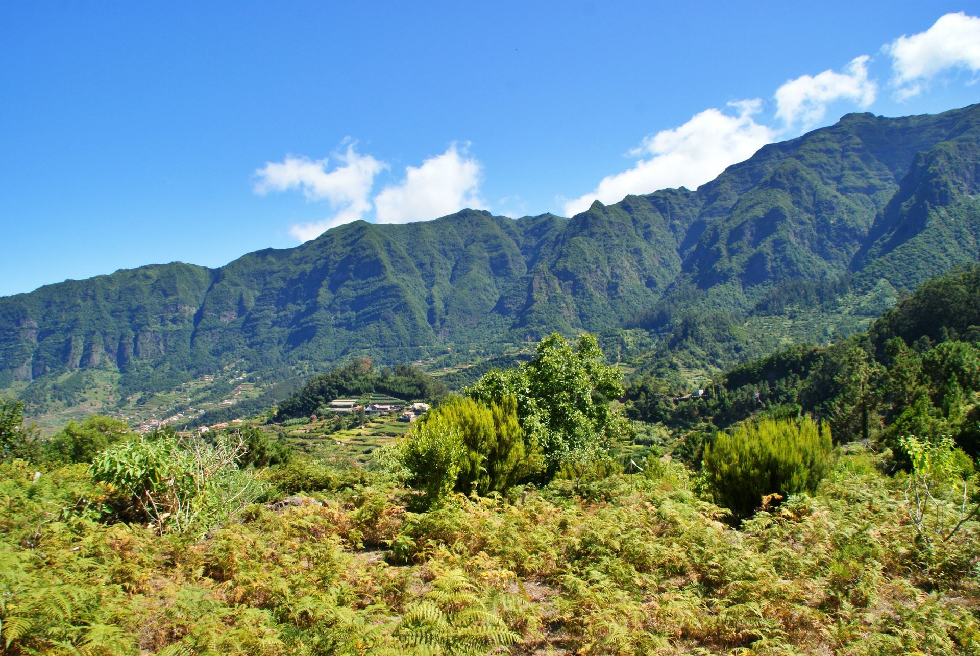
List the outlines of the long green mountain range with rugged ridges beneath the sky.
<svg viewBox="0 0 980 656">
<path fill-rule="evenodd" d="M 656 341 L 681 315 L 786 315 L 808 289 L 818 303 L 884 298 L 880 312 L 978 260 L 978 179 L 980 105 L 850 114 L 697 190 L 596 201 L 570 219 L 357 221 L 217 269 L 66 280 L 0 298 L 0 392 L 39 410 L 84 372 L 111 375 L 100 384 L 121 399 L 232 364 L 274 379 L 353 356 L 494 356 L 552 331 Z"/>
</svg>

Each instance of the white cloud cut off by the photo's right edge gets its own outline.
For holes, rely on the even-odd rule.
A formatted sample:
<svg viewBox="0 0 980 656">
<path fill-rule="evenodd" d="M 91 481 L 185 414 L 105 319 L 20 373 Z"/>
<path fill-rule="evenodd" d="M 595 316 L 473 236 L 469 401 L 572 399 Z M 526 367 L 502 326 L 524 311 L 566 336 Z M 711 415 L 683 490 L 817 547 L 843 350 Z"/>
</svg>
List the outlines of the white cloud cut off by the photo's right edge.
<svg viewBox="0 0 980 656">
<path fill-rule="evenodd" d="M 903 35 L 886 45 L 892 56 L 900 99 L 922 92 L 933 77 L 950 69 L 980 72 L 980 18 L 963 12 L 940 17 L 924 32 Z"/>
</svg>

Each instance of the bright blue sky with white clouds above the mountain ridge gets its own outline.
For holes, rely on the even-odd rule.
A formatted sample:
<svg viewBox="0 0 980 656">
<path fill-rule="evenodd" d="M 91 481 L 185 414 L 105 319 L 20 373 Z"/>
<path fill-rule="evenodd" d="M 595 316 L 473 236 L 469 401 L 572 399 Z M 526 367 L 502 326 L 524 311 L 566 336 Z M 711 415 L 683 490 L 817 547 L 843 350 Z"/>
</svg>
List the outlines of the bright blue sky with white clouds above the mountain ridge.
<svg viewBox="0 0 980 656">
<path fill-rule="evenodd" d="M 567 216 L 980 101 L 948 2 L 0 5 L 0 295 L 356 218 Z"/>
</svg>

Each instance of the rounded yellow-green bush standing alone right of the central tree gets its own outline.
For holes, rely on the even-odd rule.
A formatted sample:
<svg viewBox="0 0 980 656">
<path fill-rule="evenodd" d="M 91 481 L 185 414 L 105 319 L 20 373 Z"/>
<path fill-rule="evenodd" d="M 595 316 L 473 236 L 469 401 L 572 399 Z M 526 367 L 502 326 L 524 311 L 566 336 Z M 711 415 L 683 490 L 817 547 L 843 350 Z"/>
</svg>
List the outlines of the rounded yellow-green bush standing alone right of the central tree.
<svg viewBox="0 0 980 656">
<path fill-rule="evenodd" d="M 705 471 L 718 502 L 738 518 L 764 505 L 763 497 L 813 493 L 831 465 L 830 427 L 809 417 L 763 420 L 719 432 L 705 446 Z"/>
</svg>

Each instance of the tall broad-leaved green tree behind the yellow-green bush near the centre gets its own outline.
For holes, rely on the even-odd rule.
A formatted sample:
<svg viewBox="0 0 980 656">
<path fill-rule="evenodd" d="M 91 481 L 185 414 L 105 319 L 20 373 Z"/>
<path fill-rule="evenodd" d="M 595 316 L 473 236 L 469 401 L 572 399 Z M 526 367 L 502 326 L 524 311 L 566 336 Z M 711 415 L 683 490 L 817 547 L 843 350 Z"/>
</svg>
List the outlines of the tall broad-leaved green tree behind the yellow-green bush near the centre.
<svg viewBox="0 0 980 656">
<path fill-rule="evenodd" d="M 485 404 L 514 396 L 524 434 L 541 446 L 546 477 L 566 462 L 604 454 L 626 421 L 610 400 L 622 394 L 617 367 L 605 364 L 595 335 L 583 333 L 577 348 L 554 333 L 537 346 L 533 360 L 507 370 L 491 370 L 466 389 Z"/>
</svg>

